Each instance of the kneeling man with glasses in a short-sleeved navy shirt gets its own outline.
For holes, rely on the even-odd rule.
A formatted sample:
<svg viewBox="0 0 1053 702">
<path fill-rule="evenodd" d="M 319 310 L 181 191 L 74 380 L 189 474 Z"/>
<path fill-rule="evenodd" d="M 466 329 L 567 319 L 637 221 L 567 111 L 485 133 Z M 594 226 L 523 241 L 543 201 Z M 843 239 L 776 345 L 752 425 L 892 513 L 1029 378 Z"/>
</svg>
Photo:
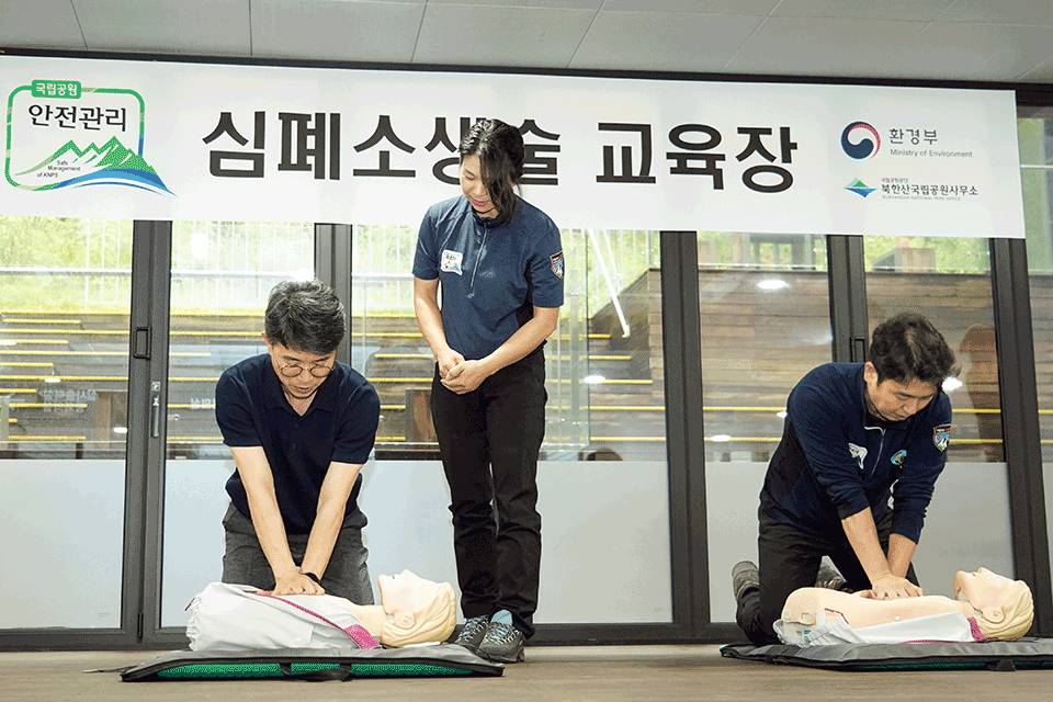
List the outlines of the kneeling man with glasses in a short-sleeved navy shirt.
<svg viewBox="0 0 1053 702">
<path fill-rule="evenodd" d="M 325 283 L 279 283 L 264 315 L 267 353 L 219 377 L 216 421 L 237 466 L 224 582 L 373 603 L 356 500 L 380 399 L 336 360 L 346 327 Z"/>
</svg>

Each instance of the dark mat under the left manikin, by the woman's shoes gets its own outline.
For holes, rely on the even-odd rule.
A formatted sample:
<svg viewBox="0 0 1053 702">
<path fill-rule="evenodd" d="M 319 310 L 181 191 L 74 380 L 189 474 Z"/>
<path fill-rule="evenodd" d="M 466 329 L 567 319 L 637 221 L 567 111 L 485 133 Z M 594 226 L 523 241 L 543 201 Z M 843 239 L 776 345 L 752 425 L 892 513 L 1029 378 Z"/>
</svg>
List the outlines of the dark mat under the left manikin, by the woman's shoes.
<svg viewBox="0 0 1053 702">
<path fill-rule="evenodd" d="M 373 677 L 500 676 L 505 666 L 464 646 L 351 650 L 295 649 L 251 653 L 172 650 L 121 670 L 125 682 L 150 680 L 351 680 Z"/>
</svg>

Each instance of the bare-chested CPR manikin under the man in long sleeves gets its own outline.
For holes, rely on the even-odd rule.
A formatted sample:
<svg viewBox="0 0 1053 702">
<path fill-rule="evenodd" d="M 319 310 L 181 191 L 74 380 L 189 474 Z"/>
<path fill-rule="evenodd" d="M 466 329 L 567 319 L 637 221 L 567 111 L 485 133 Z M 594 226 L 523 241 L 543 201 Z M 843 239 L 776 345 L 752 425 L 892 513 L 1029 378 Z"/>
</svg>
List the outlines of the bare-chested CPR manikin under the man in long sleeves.
<svg viewBox="0 0 1053 702">
<path fill-rule="evenodd" d="M 794 646 L 1014 641 L 1028 632 L 1034 615 L 1026 582 L 986 568 L 956 573 L 953 600 L 942 596 L 874 600 L 868 595 L 794 590 L 774 624 L 775 633 Z"/>
</svg>

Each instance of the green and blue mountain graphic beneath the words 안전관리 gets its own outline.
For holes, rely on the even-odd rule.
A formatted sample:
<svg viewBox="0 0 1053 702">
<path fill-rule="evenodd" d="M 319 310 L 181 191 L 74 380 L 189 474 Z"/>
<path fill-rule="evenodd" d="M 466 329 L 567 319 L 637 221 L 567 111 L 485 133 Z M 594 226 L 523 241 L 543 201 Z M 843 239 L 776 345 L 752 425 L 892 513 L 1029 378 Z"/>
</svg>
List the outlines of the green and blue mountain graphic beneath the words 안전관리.
<svg viewBox="0 0 1053 702">
<path fill-rule="evenodd" d="M 72 140 L 39 163 L 15 173 L 22 183 L 10 173 L 8 181 L 23 190 L 45 191 L 84 185 L 127 185 L 155 193 L 174 194 L 168 189 L 157 171 L 135 151 L 126 148 L 117 137 L 102 146 L 94 143 L 81 149 Z M 26 181 L 49 181 L 43 185 L 23 184 Z"/>
</svg>

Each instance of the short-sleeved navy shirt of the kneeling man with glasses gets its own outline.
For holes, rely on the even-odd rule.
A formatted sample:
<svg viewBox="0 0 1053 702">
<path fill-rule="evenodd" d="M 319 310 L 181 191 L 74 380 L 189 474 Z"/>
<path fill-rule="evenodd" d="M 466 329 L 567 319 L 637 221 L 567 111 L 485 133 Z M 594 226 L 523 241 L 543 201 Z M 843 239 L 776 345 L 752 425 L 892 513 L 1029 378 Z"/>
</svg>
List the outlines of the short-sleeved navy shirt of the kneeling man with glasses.
<svg viewBox="0 0 1053 702">
<path fill-rule="evenodd" d="M 292 534 L 310 533 L 322 480 L 333 461 L 362 464 L 376 439 L 381 403 L 351 366 L 337 362 L 303 416 L 296 414 L 267 353 L 224 371 L 216 384 L 216 422 L 228 446 L 262 446 L 274 476 L 278 508 Z M 356 507 L 359 475 L 348 500 Z M 227 494 L 246 517 L 249 502 L 237 471 Z"/>
</svg>

